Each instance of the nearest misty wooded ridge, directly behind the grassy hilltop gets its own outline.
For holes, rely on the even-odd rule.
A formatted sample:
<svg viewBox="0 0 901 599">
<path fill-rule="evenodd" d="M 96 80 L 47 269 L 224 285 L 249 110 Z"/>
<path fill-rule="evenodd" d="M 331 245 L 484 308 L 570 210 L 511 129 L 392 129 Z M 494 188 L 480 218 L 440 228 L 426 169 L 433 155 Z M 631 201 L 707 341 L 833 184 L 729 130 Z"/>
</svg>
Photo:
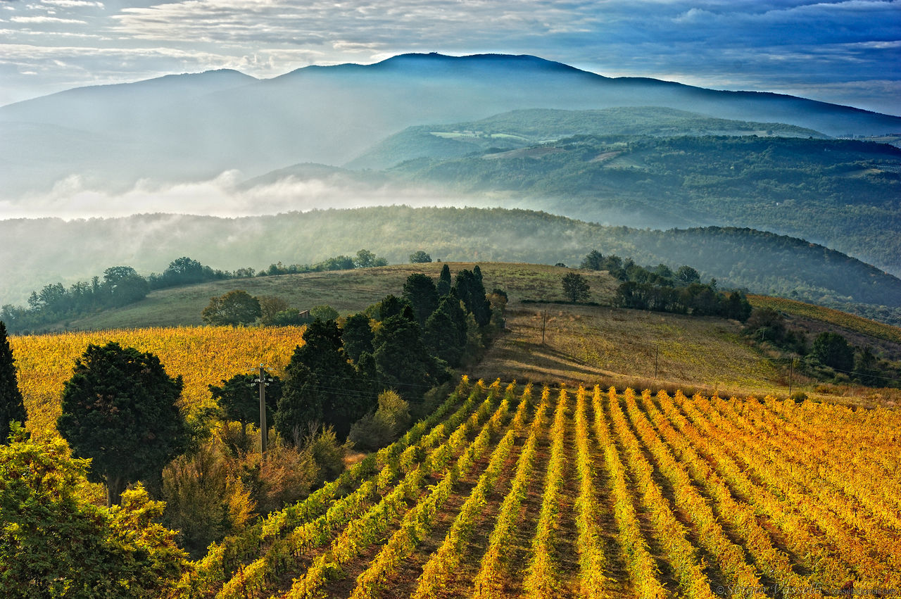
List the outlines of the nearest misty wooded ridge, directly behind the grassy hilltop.
<svg viewBox="0 0 901 599">
<path fill-rule="evenodd" d="M 821 303 L 901 306 L 901 280 L 822 246 L 742 229 L 635 230 L 547 213 L 477 208 L 314 211 L 240 219 L 143 214 L 121 219 L 0 221 L 0 303 L 28 289 L 71 283 L 114 265 L 161 272 L 180 256 L 214 268 L 312 263 L 361 248 L 391 262 L 415 250 L 433 259 L 578 265 L 589 250 L 640 264 L 690 264 L 723 286 Z M 54 244 L 42 240 L 53 239 Z M 71 249 L 77 248 L 77 252 Z M 23 287 L 24 286 L 24 287 Z"/>
</svg>

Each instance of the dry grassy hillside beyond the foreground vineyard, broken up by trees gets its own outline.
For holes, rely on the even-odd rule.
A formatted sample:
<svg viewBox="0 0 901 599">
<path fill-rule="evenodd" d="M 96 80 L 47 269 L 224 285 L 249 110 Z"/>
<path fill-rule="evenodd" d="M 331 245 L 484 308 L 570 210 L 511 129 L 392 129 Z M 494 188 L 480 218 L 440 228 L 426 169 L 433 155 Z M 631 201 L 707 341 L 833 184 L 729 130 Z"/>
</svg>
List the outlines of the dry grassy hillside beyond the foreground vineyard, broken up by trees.
<svg viewBox="0 0 901 599">
<path fill-rule="evenodd" d="M 472 268 L 473 263 L 449 263 L 451 273 Z M 289 304 L 307 308 L 331 304 L 341 313 L 365 308 L 389 293 L 399 294 L 405 278 L 414 272 L 438 277 L 443 265 L 401 265 L 365 270 L 308 273 L 217 281 L 199 286 L 168 289 L 150 294 L 139 304 L 72 322 L 80 328 L 175 326 L 197 324 L 212 295 L 242 288 L 253 295 L 278 295 Z M 591 285 L 589 301 L 601 304 L 533 304 L 523 300 L 562 301 L 560 279 L 569 269 L 531 264 L 481 263 L 486 288 L 505 289 L 510 296 L 508 332 L 496 340 L 473 374 L 536 381 L 600 381 L 605 385 L 681 387 L 766 395 L 787 393 L 787 371 L 773 366 L 747 347 L 737 322 L 693 318 L 678 314 L 647 313 L 607 307 L 615 281 L 605 273 L 583 271 Z M 896 327 L 849 314 L 763 296 L 768 302 L 794 306 L 808 318 L 854 331 L 859 339 L 886 340 Z M 545 343 L 541 342 L 542 313 L 547 309 Z M 785 310 L 783 307 L 779 309 Z M 659 354 L 657 353 L 659 348 Z M 654 379 L 655 358 L 658 377 Z M 623 383 L 625 381 L 625 383 Z M 813 392 L 813 381 L 794 380 Z M 833 397 L 834 400 L 834 397 Z"/>
</svg>

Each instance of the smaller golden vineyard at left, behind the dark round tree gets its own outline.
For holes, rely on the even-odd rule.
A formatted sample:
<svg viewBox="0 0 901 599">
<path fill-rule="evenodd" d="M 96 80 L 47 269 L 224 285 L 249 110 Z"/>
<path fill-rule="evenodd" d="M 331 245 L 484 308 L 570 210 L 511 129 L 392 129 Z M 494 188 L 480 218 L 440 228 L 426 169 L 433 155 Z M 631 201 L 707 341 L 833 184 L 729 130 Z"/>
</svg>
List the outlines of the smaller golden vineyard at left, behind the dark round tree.
<svg viewBox="0 0 901 599">
<path fill-rule="evenodd" d="M 210 401 L 207 386 L 246 372 L 258 361 L 283 368 L 295 347 L 303 344 L 302 333 L 303 329 L 296 327 L 168 327 L 25 335 L 11 337 L 10 345 L 29 430 L 41 437 L 55 433 L 63 385 L 72 377 L 76 358 L 90 343 L 116 341 L 123 347 L 152 352 L 170 377 L 184 378 L 182 397 L 188 406 L 196 406 Z"/>
</svg>

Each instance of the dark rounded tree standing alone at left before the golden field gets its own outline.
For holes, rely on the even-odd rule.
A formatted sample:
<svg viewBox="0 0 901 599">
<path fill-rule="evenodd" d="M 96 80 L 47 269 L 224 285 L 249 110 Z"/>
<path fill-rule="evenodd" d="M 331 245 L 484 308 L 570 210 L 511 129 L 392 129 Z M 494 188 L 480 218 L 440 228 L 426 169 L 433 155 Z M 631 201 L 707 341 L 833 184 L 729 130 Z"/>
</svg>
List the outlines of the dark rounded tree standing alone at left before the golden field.
<svg viewBox="0 0 901 599">
<path fill-rule="evenodd" d="M 158 477 L 187 449 L 182 386 L 153 354 L 114 342 L 88 345 L 76 360 L 57 429 L 77 458 L 93 459 L 88 477 L 105 483 L 107 504 L 118 504 L 130 482 Z"/>
</svg>

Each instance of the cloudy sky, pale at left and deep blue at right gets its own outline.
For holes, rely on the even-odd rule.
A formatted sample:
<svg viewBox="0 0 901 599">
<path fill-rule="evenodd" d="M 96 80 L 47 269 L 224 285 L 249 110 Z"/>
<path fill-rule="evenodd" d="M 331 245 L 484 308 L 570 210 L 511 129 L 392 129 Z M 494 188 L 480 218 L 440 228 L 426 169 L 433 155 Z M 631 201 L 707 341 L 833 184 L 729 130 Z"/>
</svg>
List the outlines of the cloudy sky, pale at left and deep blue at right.
<svg viewBox="0 0 901 599">
<path fill-rule="evenodd" d="M 501 52 L 901 114 L 901 0 L 0 0 L 0 105 L 235 68 Z"/>
</svg>

